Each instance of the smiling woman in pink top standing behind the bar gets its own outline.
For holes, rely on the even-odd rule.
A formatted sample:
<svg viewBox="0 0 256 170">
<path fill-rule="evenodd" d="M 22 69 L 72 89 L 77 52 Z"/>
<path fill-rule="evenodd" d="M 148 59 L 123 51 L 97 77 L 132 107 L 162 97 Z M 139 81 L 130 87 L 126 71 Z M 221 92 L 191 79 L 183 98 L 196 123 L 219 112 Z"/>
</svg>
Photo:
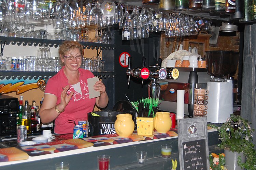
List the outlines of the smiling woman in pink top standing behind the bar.
<svg viewBox="0 0 256 170">
<path fill-rule="evenodd" d="M 74 41 L 65 41 L 59 48 L 59 55 L 64 66 L 50 78 L 44 93 L 44 101 L 39 110 L 42 123 L 55 120 L 55 133 L 73 133 L 74 120 L 87 120 L 87 113 L 93 111 L 94 105 L 100 108 L 107 106 L 109 98 L 102 81 L 97 81 L 94 89 L 100 97 L 89 99 L 87 79 L 93 73 L 80 68 L 83 47 Z"/>
</svg>

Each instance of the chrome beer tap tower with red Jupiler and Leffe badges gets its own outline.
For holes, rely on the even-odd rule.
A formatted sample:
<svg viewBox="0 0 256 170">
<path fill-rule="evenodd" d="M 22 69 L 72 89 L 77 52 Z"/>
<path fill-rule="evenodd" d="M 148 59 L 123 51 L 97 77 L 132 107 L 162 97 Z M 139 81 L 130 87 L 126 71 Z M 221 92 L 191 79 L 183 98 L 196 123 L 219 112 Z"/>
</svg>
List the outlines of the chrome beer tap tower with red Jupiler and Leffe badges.
<svg viewBox="0 0 256 170">
<path fill-rule="evenodd" d="M 144 80 L 150 79 L 148 83 L 148 97 L 159 98 L 160 95 L 160 80 L 179 78 L 180 72 L 177 68 L 164 68 L 161 67 L 162 59 L 158 59 L 158 65 L 151 65 L 145 67 L 146 58 L 142 58 L 142 67 L 131 69 L 131 57 L 128 57 L 128 70 L 126 74 L 128 77 L 128 85 L 130 83 L 130 77 Z"/>
</svg>

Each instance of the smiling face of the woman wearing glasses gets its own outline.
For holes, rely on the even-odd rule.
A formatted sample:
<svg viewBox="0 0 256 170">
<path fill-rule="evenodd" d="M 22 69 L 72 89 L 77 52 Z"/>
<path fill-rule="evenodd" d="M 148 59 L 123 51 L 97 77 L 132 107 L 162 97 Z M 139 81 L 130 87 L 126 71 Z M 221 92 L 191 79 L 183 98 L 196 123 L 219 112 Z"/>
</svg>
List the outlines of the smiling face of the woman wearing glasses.
<svg viewBox="0 0 256 170">
<path fill-rule="evenodd" d="M 79 48 L 75 48 L 73 50 L 68 51 L 65 56 L 70 57 L 70 56 L 80 56 L 81 52 Z M 65 69 L 67 71 L 77 71 L 78 68 L 82 64 L 82 58 L 76 59 L 75 57 L 72 60 L 68 60 L 66 57 L 61 55 L 61 61 L 64 62 L 65 64 Z"/>
</svg>

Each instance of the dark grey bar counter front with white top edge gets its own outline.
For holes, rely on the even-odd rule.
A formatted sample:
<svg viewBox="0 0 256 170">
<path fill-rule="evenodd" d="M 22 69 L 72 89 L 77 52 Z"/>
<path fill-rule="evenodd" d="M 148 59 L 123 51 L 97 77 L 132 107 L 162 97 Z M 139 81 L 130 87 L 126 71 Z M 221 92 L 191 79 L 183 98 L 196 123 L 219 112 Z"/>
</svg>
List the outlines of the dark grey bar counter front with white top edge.
<svg viewBox="0 0 256 170">
<path fill-rule="evenodd" d="M 218 133 L 215 129 L 208 130 L 209 153 L 220 153 L 216 148 Z M 123 144 L 113 144 L 108 146 L 90 146 L 88 148 L 76 149 L 71 151 L 46 154 L 41 156 L 29 156 L 26 160 L 7 161 L 0 163 L 1 170 L 55 170 L 55 164 L 67 161 L 70 170 L 73 169 L 97 169 L 97 156 L 110 155 L 110 169 L 171 169 L 171 159 L 161 158 L 161 145 L 172 145 L 172 159 L 177 159 L 177 170 L 180 169 L 179 150 L 177 136 L 146 141 L 135 141 Z M 138 164 L 136 152 L 146 151 L 147 159 L 145 164 Z"/>
</svg>

